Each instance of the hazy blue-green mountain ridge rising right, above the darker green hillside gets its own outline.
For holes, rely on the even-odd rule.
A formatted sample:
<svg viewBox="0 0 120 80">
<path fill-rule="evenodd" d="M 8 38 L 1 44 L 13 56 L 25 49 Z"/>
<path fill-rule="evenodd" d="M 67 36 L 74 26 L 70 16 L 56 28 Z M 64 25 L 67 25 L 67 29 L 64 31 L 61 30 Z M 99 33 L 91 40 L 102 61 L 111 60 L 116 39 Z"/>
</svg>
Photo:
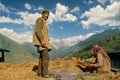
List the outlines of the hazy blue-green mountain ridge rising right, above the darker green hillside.
<svg viewBox="0 0 120 80">
<path fill-rule="evenodd" d="M 95 43 L 99 42 L 100 40 L 108 39 L 112 36 L 117 36 L 117 35 L 120 35 L 120 29 L 105 30 L 104 32 L 94 34 L 93 36 L 89 37 L 88 39 L 81 41 L 72 47 L 69 47 L 68 49 L 62 51 L 62 53 L 59 53 L 58 55 L 64 54 L 64 56 L 61 56 L 61 57 L 65 57 L 65 56 L 71 55 L 73 53 L 77 53 L 80 50 L 86 48 L 87 46 L 94 45 Z"/>
</svg>

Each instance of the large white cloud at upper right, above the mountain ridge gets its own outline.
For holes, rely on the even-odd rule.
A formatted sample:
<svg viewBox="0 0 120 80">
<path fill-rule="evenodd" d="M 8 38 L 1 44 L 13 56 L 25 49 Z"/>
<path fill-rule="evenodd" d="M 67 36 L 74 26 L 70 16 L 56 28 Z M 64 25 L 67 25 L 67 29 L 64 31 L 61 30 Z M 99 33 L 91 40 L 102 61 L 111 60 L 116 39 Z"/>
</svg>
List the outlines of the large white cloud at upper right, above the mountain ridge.
<svg viewBox="0 0 120 80">
<path fill-rule="evenodd" d="M 82 20 L 83 27 L 88 29 L 91 24 L 100 26 L 119 26 L 120 25 L 120 2 L 114 2 L 108 5 L 105 9 L 100 5 L 91 8 L 82 14 L 81 18 L 87 17 L 87 20 Z"/>
</svg>

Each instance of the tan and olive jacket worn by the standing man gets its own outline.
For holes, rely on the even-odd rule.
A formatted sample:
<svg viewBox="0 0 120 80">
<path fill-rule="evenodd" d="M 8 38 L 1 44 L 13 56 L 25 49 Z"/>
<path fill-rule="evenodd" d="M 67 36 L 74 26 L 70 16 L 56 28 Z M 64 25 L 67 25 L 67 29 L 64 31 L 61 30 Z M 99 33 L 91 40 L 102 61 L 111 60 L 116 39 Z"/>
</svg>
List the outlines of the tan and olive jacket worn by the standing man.
<svg viewBox="0 0 120 80">
<path fill-rule="evenodd" d="M 46 46 L 43 47 L 41 46 L 41 41 L 45 41 L 46 42 Z M 51 44 L 49 42 L 48 39 L 48 28 L 46 25 L 46 21 L 39 17 L 36 20 L 36 24 L 34 26 L 34 33 L 33 33 L 33 40 L 32 43 L 37 46 L 38 51 L 42 51 L 45 48 L 47 48 L 48 50 L 51 50 Z"/>
</svg>

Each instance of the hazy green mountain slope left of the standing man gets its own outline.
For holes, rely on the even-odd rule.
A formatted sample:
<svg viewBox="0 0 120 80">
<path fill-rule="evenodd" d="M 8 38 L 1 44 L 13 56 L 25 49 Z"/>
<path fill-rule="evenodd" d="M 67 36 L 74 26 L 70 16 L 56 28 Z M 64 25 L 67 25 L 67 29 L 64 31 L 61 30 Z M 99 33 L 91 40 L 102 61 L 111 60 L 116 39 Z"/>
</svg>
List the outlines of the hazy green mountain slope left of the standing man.
<svg viewBox="0 0 120 80">
<path fill-rule="evenodd" d="M 33 54 L 36 54 L 36 51 L 31 45 L 18 44 L 2 34 L 0 34 L 0 49 L 10 51 L 4 53 L 5 62 L 8 63 L 28 62 L 36 59 L 36 57 L 33 56 Z"/>
</svg>

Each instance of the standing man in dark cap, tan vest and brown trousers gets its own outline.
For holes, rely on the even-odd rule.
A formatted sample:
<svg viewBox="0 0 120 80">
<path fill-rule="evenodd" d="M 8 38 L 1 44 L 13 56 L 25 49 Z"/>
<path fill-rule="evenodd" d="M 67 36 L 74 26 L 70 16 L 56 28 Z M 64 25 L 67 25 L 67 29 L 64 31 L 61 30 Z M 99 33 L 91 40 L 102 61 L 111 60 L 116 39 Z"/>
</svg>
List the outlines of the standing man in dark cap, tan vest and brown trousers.
<svg viewBox="0 0 120 80">
<path fill-rule="evenodd" d="M 39 53 L 38 76 L 50 77 L 48 75 L 49 54 L 51 45 L 48 39 L 48 28 L 46 20 L 49 17 L 49 11 L 42 11 L 42 16 L 36 20 L 33 33 L 33 44 L 37 47 Z"/>
</svg>

